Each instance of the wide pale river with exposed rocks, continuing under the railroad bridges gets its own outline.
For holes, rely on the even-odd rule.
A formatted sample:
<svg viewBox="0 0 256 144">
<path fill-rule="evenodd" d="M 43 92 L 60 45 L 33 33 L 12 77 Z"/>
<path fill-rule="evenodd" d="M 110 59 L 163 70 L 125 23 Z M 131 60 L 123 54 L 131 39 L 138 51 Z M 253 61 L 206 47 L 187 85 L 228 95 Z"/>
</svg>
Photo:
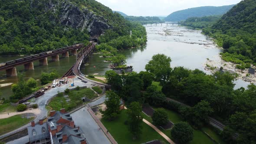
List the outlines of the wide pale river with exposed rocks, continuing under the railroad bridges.
<svg viewBox="0 0 256 144">
<path fill-rule="evenodd" d="M 222 49 L 217 48 L 211 39 L 201 34 L 201 31 L 177 25 L 166 26 L 164 23 L 162 26 L 159 24 L 155 26 L 154 24 L 152 26 L 145 25 L 145 27 L 148 34 L 146 46 L 118 52 L 127 57 L 127 65 L 132 65 L 135 72 L 144 71 L 144 67 L 151 57 L 158 53 L 171 57 L 171 67 L 184 66 L 187 69 L 200 69 L 207 74 L 210 74 L 209 71 L 204 69 L 207 58 L 216 60 L 217 64 L 220 63 L 217 57 L 222 52 Z M 82 65 L 82 73 L 104 75 L 107 70 L 110 70 L 108 68 L 109 63 L 104 62 L 105 58 L 100 56 L 100 54 L 94 54 L 90 59 L 87 59 L 89 65 Z M 18 58 L 20 56 L 0 57 L 0 62 Z M 49 59 L 46 66 L 39 66 L 39 62 L 34 62 L 35 70 L 24 71 L 23 65 L 18 66 L 17 70 L 20 73 L 24 73 L 26 79 L 33 77 L 38 80 L 42 72 L 51 72 L 53 69 L 63 75 L 74 63 L 75 56 L 70 56 L 69 58 L 60 58 L 59 62 L 51 62 Z M 16 77 L 7 78 L 5 72 L 0 72 L 0 75 L 0 84 L 17 82 Z M 240 79 L 236 80 L 235 83 L 235 88 L 246 87 L 249 84 Z M 11 86 L 1 87 L 0 90 L 5 98 L 10 97 L 12 94 Z"/>
</svg>

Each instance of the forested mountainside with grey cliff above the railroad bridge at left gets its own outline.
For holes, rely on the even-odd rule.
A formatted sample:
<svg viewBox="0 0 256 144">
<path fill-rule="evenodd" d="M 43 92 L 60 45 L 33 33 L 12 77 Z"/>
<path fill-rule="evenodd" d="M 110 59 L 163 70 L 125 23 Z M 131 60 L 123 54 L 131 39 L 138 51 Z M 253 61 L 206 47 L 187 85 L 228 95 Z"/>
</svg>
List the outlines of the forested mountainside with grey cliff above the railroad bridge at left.
<svg viewBox="0 0 256 144">
<path fill-rule="evenodd" d="M 129 34 L 132 24 L 95 0 L 0 0 L 0 52 L 33 54 L 88 43 L 113 29 Z"/>
</svg>

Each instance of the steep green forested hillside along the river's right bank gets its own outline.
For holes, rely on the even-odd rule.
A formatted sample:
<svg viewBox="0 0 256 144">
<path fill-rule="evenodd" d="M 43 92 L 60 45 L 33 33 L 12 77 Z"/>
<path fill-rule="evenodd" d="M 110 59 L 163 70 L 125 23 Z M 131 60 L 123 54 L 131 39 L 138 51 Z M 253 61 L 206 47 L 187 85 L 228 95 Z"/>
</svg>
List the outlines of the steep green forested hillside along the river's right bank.
<svg viewBox="0 0 256 144">
<path fill-rule="evenodd" d="M 225 61 L 236 63 L 239 69 L 256 65 L 256 1 L 243 0 L 224 14 L 203 33 L 217 40 Z"/>
</svg>

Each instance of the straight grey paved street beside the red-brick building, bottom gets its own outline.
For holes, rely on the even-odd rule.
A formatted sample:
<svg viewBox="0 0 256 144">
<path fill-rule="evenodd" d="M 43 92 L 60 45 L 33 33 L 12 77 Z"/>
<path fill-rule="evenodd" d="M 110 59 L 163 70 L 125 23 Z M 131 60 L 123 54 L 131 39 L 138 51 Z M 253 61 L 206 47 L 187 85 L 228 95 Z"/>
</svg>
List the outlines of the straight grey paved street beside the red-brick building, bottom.
<svg viewBox="0 0 256 144">
<path fill-rule="evenodd" d="M 90 106 L 102 104 L 102 101 L 105 101 L 105 96 L 93 101 L 90 103 Z M 111 144 L 104 132 L 102 130 L 98 131 L 99 126 L 89 114 L 86 107 L 75 111 L 71 116 L 75 121 L 75 125 L 79 126 L 85 134 L 85 138 L 88 140 L 89 144 Z"/>
</svg>

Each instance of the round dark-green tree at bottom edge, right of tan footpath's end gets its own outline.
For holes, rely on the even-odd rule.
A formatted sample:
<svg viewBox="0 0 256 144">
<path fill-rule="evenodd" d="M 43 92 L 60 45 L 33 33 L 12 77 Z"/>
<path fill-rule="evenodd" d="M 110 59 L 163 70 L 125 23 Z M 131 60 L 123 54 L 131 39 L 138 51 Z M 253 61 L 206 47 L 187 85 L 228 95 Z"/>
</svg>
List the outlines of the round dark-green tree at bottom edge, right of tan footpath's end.
<svg viewBox="0 0 256 144">
<path fill-rule="evenodd" d="M 174 127 L 171 129 L 171 137 L 178 144 L 186 144 L 193 140 L 193 131 L 193 128 L 187 122 L 180 122 L 174 124 Z"/>
</svg>

